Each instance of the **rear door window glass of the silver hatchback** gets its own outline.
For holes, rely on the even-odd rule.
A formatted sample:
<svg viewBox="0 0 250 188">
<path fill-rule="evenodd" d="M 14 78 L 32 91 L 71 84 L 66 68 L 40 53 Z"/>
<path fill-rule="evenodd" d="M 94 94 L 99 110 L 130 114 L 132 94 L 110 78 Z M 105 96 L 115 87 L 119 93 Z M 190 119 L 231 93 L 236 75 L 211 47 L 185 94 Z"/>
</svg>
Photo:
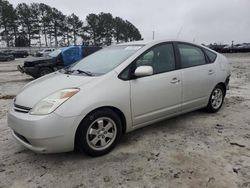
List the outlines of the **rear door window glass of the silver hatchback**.
<svg viewBox="0 0 250 188">
<path fill-rule="evenodd" d="M 180 51 L 182 68 L 206 64 L 205 55 L 199 47 L 188 44 L 178 44 L 178 48 Z"/>
</svg>

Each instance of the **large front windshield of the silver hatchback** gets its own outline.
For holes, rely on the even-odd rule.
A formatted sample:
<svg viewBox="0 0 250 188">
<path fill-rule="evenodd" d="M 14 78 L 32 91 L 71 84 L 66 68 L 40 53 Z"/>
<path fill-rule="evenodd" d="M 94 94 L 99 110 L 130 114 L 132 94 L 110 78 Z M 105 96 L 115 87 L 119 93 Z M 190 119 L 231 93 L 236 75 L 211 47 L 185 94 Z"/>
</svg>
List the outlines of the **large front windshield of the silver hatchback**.
<svg viewBox="0 0 250 188">
<path fill-rule="evenodd" d="M 141 47 L 137 45 L 107 47 L 87 56 L 69 67 L 68 70 L 80 70 L 93 75 L 106 74 L 128 59 Z"/>
</svg>

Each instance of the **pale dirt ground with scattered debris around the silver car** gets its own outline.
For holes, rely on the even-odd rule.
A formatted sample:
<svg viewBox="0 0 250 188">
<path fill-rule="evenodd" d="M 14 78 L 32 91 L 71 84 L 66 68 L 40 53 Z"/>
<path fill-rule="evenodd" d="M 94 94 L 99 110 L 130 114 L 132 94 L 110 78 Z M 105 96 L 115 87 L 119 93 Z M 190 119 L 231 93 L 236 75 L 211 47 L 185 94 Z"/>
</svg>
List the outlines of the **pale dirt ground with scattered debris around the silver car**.
<svg viewBox="0 0 250 188">
<path fill-rule="evenodd" d="M 250 188 L 250 54 L 229 54 L 221 111 L 188 113 L 124 136 L 108 155 L 35 154 L 18 144 L 6 113 L 32 79 L 0 62 L 0 187 Z"/>
</svg>

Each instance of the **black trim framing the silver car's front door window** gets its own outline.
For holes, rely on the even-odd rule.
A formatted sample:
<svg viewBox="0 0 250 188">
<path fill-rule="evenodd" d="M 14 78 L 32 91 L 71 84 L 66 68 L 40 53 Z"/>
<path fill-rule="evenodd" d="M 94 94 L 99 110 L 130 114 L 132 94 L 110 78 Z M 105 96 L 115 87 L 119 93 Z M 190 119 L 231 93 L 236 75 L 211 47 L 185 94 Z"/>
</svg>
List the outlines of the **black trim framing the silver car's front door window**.
<svg viewBox="0 0 250 188">
<path fill-rule="evenodd" d="M 121 79 L 121 80 L 123 80 L 123 81 L 129 81 L 129 80 L 139 79 L 139 78 L 133 78 L 133 77 L 131 77 L 132 72 L 133 72 L 132 70 L 135 68 L 135 67 L 133 68 L 133 66 L 135 65 L 136 61 L 137 61 L 138 59 L 140 59 L 142 56 L 144 56 L 145 54 L 147 54 L 149 51 L 151 51 L 153 48 L 155 48 L 155 47 L 157 47 L 157 46 L 164 45 L 164 44 L 171 44 L 172 47 L 173 47 L 174 59 L 175 59 L 175 69 L 174 69 L 174 70 L 170 70 L 170 71 L 161 72 L 161 73 L 155 73 L 155 74 L 153 74 L 153 75 L 151 75 L 151 76 L 158 75 L 158 74 L 164 74 L 164 73 L 167 73 L 167 72 L 171 72 L 171 71 L 176 71 L 176 70 L 178 70 L 179 68 L 177 68 L 178 66 L 177 66 L 177 64 L 176 64 L 178 58 L 177 58 L 177 54 L 176 54 L 174 42 L 172 42 L 172 41 L 170 41 L 170 42 L 161 42 L 161 43 L 159 43 L 159 44 L 156 44 L 156 45 L 150 47 L 149 49 L 147 49 L 146 51 L 144 51 L 142 54 L 140 54 L 135 60 L 133 60 L 127 67 L 125 67 L 125 68 L 120 72 L 120 74 L 118 75 L 118 78 Z M 130 76 L 129 76 L 127 79 L 124 79 L 124 78 L 121 77 L 121 75 L 122 75 L 127 69 L 129 69 L 129 75 L 130 75 Z"/>
</svg>

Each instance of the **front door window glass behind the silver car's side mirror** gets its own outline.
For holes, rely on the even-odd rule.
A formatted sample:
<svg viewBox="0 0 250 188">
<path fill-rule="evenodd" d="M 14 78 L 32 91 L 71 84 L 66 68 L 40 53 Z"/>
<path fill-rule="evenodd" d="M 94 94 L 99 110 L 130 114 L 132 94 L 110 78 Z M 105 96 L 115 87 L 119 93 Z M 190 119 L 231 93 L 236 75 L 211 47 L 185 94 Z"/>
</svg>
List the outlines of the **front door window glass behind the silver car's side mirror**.
<svg viewBox="0 0 250 188">
<path fill-rule="evenodd" d="M 152 66 L 154 74 L 175 70 L 175 56 L 172 44 L 153 47 L 136 62 L 136 67 Z"/>
</svg>

